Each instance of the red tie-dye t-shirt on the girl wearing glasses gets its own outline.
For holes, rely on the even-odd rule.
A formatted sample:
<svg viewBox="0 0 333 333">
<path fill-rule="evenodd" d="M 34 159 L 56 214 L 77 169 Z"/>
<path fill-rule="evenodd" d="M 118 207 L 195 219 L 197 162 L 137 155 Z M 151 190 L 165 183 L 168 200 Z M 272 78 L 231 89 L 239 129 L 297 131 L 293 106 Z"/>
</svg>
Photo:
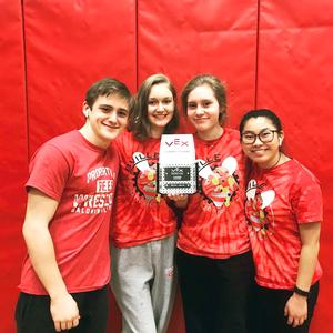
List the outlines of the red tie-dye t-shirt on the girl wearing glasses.
<svg viewBox="0 0 333 333">
<path fill-rule="evenodd" d="M 295 160 L 270 170 L 255 168 L 248 184 L 245 209 L 258 284 L 293 289 L 302 246 L 299 224 L 323 220 L 317 180 Z M 312 283 L 321 275 L 317 263 Z"/>
</svg>

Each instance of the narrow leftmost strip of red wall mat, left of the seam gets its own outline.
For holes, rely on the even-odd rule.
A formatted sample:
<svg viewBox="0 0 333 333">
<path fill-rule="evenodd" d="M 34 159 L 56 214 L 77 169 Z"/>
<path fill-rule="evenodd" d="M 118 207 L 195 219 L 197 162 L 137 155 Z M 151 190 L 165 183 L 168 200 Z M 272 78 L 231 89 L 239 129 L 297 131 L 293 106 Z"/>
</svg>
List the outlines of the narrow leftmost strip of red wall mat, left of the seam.
<svg viewBox="0 0 333 333">
<path fill-rule="evenodd" d="M 14 306 L 24 244 L 23 184 L 28 170 L 27 110 L 21 1 L 1 3 L 0 10 L 0 330 L 14 332 Z"/>
</svg>

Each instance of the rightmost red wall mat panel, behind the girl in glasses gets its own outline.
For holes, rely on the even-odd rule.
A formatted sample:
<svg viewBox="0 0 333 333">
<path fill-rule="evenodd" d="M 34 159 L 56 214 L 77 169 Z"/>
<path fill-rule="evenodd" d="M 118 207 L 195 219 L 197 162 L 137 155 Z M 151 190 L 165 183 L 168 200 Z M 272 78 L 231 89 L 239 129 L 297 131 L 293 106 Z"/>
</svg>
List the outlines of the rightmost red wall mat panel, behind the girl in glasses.
<svg viewBox="0 0 333 333">
<path fill-rule="evenodd" d="M 320 259 L 324 269 L 312 333 L 329 333 L 333 297 L 333 4 L 261 0 L 258 107 L 284 122 L 286 150 L 322 183 L 324 223 Z"/>
</svg>

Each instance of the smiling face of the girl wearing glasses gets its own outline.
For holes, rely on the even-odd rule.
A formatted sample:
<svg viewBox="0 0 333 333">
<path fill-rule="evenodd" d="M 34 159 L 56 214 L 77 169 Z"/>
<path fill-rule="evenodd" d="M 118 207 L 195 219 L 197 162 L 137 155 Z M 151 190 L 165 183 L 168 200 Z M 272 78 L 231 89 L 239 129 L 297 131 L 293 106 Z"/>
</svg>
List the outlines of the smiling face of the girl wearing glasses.
<svg viewBox="0 0 333 333">
<path fill-rule="evenodd" d="M 283 132 L 279 133 L 270 119 L 265 117 L 250 118 L 241 134 L 242 148 L 249 159 L 262 169 L 269 169 L 276 164 L 280 159 Z"/>
</svg>

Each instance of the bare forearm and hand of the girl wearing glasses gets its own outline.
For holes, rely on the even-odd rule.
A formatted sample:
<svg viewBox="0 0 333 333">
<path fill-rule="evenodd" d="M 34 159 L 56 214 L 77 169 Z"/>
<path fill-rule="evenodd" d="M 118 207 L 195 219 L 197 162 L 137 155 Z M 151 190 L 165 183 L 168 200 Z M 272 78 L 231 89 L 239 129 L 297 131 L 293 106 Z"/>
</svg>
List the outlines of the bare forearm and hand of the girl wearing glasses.
<svg viewBox="0 0 333 333">
<path fill-rule="evenodd" d="M 319 240 L 321 224 L 320 222 L 304 223 L 300 224 L 299 228 L 302 249 L 296 286 L 301 290 L 309 291 L 320 248 Z M 284 315 L 287 316 L 289 325 L 293 325 L 293 327 L 302 325 L 307 317 L 306 297 L 293 293 L 285 304 Z"/>
</svg>

